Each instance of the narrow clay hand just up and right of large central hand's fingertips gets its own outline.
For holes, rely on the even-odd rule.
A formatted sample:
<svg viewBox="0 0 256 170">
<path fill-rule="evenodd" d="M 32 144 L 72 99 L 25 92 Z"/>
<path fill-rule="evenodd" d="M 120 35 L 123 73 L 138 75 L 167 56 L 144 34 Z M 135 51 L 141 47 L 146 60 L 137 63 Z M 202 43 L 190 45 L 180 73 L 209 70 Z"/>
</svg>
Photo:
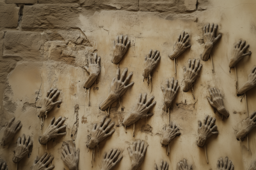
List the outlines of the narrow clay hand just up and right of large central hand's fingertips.
<svg viewBox="0 0 256 170">
<path fill-rule="evenodd" d="M 156 67 L 157 63 L 160 60 L 159 51 L 154 50 L 152 53 L 152 50 L 149 51 L 149 53 L 145 56 L 145 62 L 144 62 L 144 71 L 143 71 L 143 77 L 147 78 L 152 70 Z"/>
</svg>

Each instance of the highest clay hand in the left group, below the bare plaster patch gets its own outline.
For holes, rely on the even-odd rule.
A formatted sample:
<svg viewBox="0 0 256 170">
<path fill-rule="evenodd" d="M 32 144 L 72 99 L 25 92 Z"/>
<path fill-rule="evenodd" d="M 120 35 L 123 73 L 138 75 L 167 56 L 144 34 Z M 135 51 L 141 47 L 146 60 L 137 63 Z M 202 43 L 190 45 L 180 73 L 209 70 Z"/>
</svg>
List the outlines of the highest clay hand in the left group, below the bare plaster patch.
<svg viewBox="0 0 256 170">
<path fill-rule="evenodd" d="M 58 89 L 50 89 L 47 92 L 46 97 L 42 101 L 42 108 L 39 111 L 38 117 L 44 117 L 44 115 L 47 115 L 47 113 L 49 113 L 49 111 L 51 111 L 56 104 L 59 104 L 62 102 L 62 101 L 54 102 L 54 100 L 57 99 L 57 96 L 59 94 L 60 94 L 60 90 Z M 46 111 L 47 113 L 45 114 Z"/>
</svg>

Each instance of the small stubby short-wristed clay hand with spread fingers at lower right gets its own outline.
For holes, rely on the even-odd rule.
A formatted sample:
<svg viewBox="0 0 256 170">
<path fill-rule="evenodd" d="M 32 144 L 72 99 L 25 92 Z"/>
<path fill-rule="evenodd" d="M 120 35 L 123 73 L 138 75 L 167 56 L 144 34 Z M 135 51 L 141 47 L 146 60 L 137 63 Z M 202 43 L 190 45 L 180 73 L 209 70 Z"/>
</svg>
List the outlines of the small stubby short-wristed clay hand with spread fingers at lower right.
<svg viewBox="0 0 256 170">
<path fill-rule="evenodd" d="M 162 145 L 168 145 L 172 139 L 174 139 L 176 136 L 180 135 L 179 127 L 175 125 L 173 122 L 171 122 L 170 126 L 163 128 L 164 135 L 163 139 L 161 140 Z"/>
</svg>

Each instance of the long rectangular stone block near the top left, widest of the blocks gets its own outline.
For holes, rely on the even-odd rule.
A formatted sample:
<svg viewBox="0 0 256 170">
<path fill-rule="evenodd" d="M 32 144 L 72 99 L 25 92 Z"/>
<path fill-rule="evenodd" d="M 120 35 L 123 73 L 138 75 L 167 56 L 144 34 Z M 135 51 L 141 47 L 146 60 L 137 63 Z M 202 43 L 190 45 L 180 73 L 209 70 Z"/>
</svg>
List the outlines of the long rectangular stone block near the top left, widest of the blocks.
<svg viewBox="0 0 256 170">
<path fill-rule="evenodd" d="M 35 4 L 24 6 L 22 28 L 65 28 L 79 24 L 79 4 Z"/>
</svg>

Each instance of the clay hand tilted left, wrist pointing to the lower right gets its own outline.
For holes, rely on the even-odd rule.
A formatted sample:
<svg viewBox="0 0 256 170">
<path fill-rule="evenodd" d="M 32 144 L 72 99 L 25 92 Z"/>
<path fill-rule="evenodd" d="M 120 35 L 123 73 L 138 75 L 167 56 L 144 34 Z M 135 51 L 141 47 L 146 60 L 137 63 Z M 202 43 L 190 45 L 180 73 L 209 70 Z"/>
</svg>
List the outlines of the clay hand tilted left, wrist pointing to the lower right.
<svg viewBox="0 0 256 170">
<path fill-rule="evenodd" d="M 218 110 L 218 112 L 221 113 L 221 115 L 228 118 L 229 112 L 224 107 L 223 97 L 221 96 L 220 90 L 214 87 L 209 89 L 209 92 L 211 94 L 212 100 L 209 97 L 207 97 L 207 99 L 211 106 L 216 108 L 216 110 Z"/>
</svg>

